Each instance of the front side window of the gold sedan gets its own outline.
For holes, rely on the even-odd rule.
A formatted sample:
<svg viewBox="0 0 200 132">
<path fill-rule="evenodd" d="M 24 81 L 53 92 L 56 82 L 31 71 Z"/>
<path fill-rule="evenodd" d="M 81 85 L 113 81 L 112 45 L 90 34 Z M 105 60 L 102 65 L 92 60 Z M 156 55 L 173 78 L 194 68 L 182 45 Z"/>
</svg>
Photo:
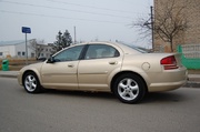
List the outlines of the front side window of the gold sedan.
<svg viewBox="0 0 200 132">
<path fill-rule="evenodd" d="M 76 61 L 79 60 L 83 45 L 78 45 L 63 50 L 62 52 L 54 55 L 54 61 Z"/>
</svg>

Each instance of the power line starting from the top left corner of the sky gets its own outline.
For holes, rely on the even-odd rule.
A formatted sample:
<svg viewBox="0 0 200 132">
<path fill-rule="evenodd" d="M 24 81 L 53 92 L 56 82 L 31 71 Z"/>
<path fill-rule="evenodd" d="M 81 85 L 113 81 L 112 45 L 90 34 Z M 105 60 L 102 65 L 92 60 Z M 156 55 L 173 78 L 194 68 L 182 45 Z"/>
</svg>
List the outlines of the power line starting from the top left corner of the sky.
<svg viewBox="0 0 200 132">
<path fill-rule="evenodd" d="M 22 2 L 13 2 L 13 1 L 0 1 L 0 2 L 12 3 L 12 4 L 21 4 L 21 6 L 30 6 L 30 7 L 39 7 L 39 8 L 46 8 L 46 9 L 66 10 L 66 11 L 73 11 L 73 12 L 79 12 L 79 13 L 89 13 L 89 14 L 94 14 L 94 16 L 108 16 L 108 17 L 116 17 L 116 18 L 124 18 L 124 19 L 131 19 L 132 20 L 132 17 L 124 17 L 124 16 L 97 13 L 97 12 L 72 10 L 72 9 L 64 9 L 64 8 L 54 8 L 54 7 L 47 7 L 47 6 L 37 6 L 37 4 L 31 4 L 31 3 L 22 3 Z"/>
</svg>

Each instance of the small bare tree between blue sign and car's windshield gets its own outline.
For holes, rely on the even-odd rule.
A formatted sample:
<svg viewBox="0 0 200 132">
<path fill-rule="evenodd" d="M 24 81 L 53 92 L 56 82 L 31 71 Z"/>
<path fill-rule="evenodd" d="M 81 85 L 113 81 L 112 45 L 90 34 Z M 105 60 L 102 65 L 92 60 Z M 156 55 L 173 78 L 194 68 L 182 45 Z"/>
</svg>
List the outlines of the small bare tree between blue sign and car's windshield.
<svg viewBox="0 0 200 132">
<path fill-rule="evenodd" d="M 43 51 L 42 43 L 43 40 L 37 40 L 37 39 L 30 40 L 29 48 L 36 52 L 36 59 L 38 59 L 40 57 L 40 53 Z"/>
</svg>

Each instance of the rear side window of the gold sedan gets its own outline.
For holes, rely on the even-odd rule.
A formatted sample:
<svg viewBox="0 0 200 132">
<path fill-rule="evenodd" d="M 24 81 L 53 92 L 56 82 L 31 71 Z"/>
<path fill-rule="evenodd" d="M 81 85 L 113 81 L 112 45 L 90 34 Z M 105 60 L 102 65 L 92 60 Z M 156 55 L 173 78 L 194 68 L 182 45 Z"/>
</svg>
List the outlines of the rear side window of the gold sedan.
<svg viewBox="0 0 200 132">
<path fill-rule="evenodd" d="M 119 55 L 120 55 L 119 51 L 111 45 L 91 44 L 87 50 L 84 59 L 89 60 L 89 59 L 114 58 Z"/>
</svg>

